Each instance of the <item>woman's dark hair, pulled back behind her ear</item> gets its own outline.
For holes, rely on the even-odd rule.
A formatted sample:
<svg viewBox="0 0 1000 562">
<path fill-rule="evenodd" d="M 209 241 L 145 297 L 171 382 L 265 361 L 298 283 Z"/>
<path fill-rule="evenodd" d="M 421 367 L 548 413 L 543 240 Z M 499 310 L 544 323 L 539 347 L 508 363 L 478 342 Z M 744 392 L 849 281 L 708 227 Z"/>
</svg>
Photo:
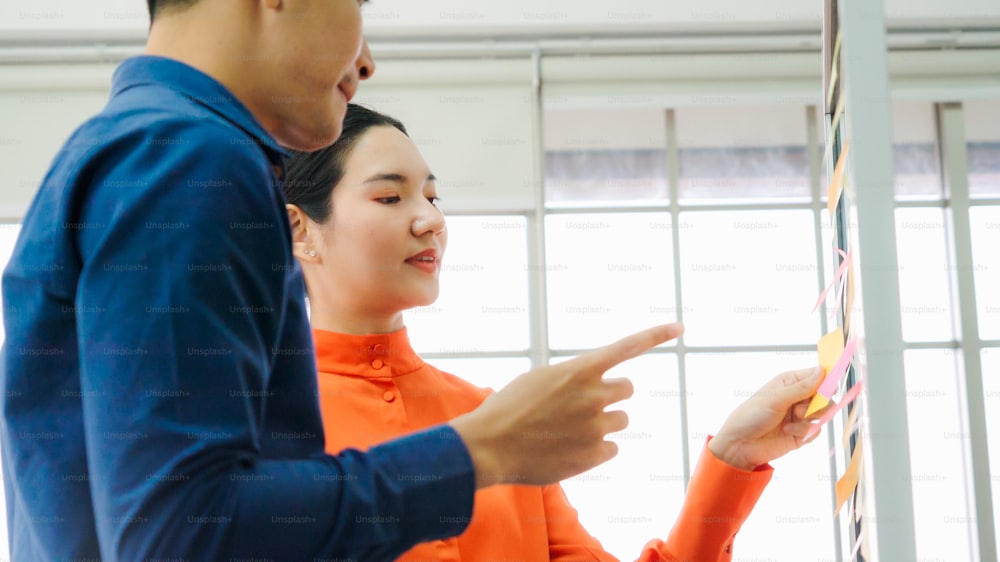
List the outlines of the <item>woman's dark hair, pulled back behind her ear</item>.
<svg viewBox="0 0 1000 562">
<path fill-rule="evenodd" d="M 333 188 L 344 177 L 351 150 L 372 127 L 394 127 L 409 136 L 398 120 L 360 105 L 348 104 L 344 129 L 337 142 L 315 152 L 290 151 L 285 166 L 285 199 L 319 224 L 330 218 Z"/>
</svg>

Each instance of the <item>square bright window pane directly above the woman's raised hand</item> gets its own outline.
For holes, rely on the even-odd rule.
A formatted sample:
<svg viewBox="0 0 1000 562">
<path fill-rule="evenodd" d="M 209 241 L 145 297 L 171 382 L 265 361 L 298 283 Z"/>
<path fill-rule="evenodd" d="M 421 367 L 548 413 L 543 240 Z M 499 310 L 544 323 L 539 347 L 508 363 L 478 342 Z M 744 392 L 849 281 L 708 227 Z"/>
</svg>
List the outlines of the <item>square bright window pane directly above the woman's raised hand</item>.
<svg viewBox="0 0 1000 562">
<path fill-rule="evenodd" d="M 808 210 L 682 212 L 685 342 L 815 345 L 813 220 Z"/>
</svg>

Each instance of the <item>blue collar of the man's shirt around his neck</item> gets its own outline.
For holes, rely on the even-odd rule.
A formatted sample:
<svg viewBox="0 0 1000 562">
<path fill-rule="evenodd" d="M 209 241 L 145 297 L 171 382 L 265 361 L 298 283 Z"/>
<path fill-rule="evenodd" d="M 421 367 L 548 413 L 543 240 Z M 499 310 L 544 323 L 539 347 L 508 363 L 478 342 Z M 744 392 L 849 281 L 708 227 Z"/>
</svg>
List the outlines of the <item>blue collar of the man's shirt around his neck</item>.
<svg viewBox="0 0 1000 562">
<path fill-rule="evenodd" d="M 232 92 L 215 78 L 180 61 L 152 55 L 126 59 L 111 78 L 111 97 L 150 84 L 170 88 L 236 125 L 265 147 L 272 161 L 281 163 L 290 156 Z"/>
</svg>

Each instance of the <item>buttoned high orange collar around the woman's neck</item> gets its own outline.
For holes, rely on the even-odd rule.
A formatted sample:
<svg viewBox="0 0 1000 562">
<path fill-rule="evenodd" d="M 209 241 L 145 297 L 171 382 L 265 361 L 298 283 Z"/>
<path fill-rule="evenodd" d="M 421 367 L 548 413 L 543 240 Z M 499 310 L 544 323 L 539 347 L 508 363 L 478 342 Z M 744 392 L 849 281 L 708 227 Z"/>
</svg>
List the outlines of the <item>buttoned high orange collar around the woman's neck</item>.
<svg viewBox="0 0 1000 562">
<path fill-rule="evenodd" d="M 363 336 L 313 330 L 313 344 L 321 373 L 389 378 L 424 366 L 423 359 L 410 347 L 406 328 Z"/>
</svg>

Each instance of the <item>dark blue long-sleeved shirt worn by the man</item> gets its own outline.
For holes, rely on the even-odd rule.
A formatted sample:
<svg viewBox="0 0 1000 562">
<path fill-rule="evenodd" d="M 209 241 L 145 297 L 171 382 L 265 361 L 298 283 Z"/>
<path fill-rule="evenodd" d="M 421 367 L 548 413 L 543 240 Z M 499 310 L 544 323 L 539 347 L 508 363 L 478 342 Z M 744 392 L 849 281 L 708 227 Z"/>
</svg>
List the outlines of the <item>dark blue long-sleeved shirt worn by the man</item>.
<svg viewBox="0 0 1000 562">
<path fill-rule="evenodd" d="M 14 560 L 368 561 L 464 529 L 449 427 L 323 452 L 285 156 L 145 56 L 56 156 L 3 275 Z"/>
</svg>

